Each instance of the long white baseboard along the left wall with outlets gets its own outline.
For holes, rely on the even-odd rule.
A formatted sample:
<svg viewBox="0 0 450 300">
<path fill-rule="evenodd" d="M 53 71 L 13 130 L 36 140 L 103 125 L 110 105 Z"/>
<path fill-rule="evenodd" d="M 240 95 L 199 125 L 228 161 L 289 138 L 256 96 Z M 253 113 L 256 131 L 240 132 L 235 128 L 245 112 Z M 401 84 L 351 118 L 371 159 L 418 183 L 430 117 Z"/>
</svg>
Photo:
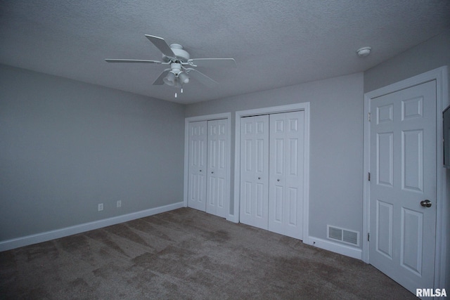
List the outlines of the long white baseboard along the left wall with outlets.
<svg viewBox="0 0 450 300">
<path fill-rule="evenodd" d="M 77 233 L 84 233 L 89 230 L 103 228 L 135 219 L 140 219 L 146 216 L 153 216 L 154 214 L 160 214 L 165 211 L 171 211 L 184 207 L 184 202 L 178 202 L 174 204 L 165 205 L 163 207 L 155 207 L 153 209 L 146 209 L 143 211 L 136 211 L 131 214 L 124 214 L 122 216 L 114 216 L 112 218 L 98 220 L 94 222 L 79 224 L 57 230 L 47 231 L 45 233 L 37 233 L 35 235 L 27 235 L 25 237 L 17 237 L 12 240 L 5 240 L 0 242 L 0 252 L 15 249 L 18 247 L 24 247 L 30 244 L 37 244 L 38 242 L 46 242 L 54 240 L 60 237 L 67 237 L 68 235 L 75 235 Z"/>
</svg>

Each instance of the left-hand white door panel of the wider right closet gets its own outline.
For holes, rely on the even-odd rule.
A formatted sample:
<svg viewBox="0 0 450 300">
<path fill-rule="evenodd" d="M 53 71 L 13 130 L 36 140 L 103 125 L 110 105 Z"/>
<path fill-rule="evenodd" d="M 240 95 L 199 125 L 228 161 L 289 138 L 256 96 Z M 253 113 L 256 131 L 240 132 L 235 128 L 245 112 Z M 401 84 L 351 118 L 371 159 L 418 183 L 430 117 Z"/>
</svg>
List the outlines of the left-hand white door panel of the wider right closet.
<svg viewBox="0 0 450 300">
<path fill-rule="evenodd" d="M 267 229 L 269 115 L 240 119 L 240 222 Z"/>
</svg>

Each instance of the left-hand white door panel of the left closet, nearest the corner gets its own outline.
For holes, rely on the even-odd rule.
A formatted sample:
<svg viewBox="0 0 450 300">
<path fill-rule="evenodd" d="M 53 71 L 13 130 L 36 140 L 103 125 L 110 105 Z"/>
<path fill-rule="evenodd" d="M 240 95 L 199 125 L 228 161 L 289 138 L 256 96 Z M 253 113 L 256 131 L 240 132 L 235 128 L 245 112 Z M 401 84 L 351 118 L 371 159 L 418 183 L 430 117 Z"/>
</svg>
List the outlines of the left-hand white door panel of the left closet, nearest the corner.
<svg viewBox="0 0 450 300">
<path fill-rule="evenodd" d="M 206 209 L 207 122 L 189 123 L 188 207 Z"/>
</svg>

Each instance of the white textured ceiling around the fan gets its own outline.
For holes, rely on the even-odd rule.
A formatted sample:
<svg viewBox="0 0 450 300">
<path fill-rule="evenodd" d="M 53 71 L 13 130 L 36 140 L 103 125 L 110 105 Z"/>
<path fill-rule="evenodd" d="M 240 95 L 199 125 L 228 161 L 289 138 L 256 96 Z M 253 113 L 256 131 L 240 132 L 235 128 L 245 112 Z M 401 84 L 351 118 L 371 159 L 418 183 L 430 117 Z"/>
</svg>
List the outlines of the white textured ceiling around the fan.
<svg viewBox="0 0 450 300">
<path fill-rule="evenodd" d="M 194 103 L 362 72 L 449 28 L 449 0 L 0 0 L 0 63 Z M 160 60 L 144 34 L 238 66 L 174 98 L 152 85 L 167 65 L 103 60 Z"/>
</svg>

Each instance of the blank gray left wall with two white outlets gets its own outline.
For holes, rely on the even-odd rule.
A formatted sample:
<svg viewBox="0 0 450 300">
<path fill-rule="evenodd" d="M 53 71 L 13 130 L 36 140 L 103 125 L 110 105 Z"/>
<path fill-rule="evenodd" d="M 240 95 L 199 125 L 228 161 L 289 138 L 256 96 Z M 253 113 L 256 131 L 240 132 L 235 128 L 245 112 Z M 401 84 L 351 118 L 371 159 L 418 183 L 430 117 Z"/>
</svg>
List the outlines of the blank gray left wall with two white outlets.
<svg viewBox="0 0 450 300">
<path fill-rule="evenodd" d="M 5 65 L 0 82 L 0 241 L 183 201 L 183 105 Z"/>
</svg>

